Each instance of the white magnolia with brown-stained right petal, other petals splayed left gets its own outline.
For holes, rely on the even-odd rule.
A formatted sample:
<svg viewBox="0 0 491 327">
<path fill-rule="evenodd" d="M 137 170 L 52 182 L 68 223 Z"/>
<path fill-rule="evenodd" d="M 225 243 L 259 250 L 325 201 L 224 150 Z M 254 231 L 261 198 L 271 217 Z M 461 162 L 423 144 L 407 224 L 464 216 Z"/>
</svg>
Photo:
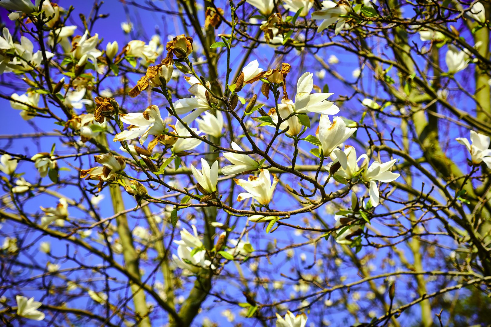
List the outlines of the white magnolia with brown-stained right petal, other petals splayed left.
<svg viewBox="0 0 491 327">
<path fill-rule="evenodd" d="M 114 136 L 114 142 L 126 141 L 140 138 L 140 144 L 143 145 L 148 135 L 160 135 L 165 130 L 165 123 L 160 115 L 159 107 L 150 105 L 143 113 L 130 112 L 121 114 L 119 118 L 123 123 L 130 125 L 128 130 Z"/>
</svg>

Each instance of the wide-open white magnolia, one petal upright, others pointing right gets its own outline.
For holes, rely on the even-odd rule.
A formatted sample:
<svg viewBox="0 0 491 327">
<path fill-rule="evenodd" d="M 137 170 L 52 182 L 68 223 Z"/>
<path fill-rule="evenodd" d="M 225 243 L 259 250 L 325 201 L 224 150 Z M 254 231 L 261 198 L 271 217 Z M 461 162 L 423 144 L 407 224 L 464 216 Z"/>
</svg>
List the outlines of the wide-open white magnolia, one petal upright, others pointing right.
<svg viewBox="0 0 491 327">
<path fill-rule="evenodd" d="M 316 112 L 323 115 L 335 115 L 339 108 L 326 99 L 334 93 L 313 93 L 314 78 L 312 73 L 304 73 L 297 82 L 297 95 L 293 110 L 297 113 Z"/>
</svg>

